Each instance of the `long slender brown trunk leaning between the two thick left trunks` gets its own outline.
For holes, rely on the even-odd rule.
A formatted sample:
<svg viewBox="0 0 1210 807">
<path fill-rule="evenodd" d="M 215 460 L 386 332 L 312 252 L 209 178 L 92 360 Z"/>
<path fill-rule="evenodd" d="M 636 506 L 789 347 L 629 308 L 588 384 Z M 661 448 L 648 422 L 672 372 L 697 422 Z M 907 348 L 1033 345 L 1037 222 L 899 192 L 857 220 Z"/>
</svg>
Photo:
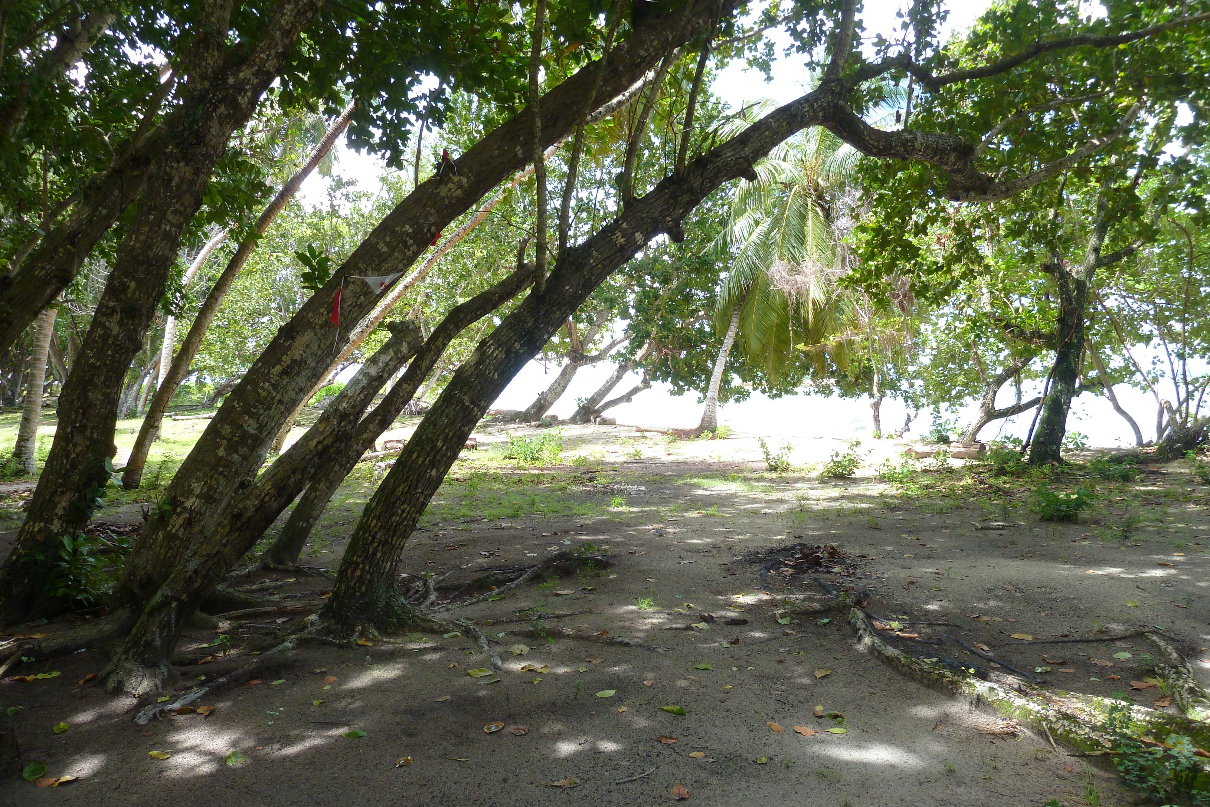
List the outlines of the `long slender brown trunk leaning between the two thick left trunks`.
<svg viewBox="0 0 1210 807">
<path fill-rule="evenodd" d="M 348 120 L 352 117 L 353 105 L 350 104 L 345 108 L 328 131 L 324 133 L 323 139 L 319 140 L 318 145 L 311 151 L 311 156 L 307 161 L 302 163 L 289 180 L 282 185 L 282 189 L 277 191 L 277 196 L 273 201 L 264 209 L 260 217 L 257 219 L 257 224 L 253 225 L 252 232 L 241 243 L 240 248 L 235 250 L 231 255 L 231 260 L 227 261 L 226 267 L 219 278 L 214 282 L 214 287 L 211 293 L 206 295 L 206 301 L 202 302 L 201 309 L 197 311 L 197 316 L 194 317 L 194 324 L 189 327 L 189 333 L 185 335 L 184 341 L 180 344 L 180 351 L 177 353 L 177 358 L 172 362 L 172 365 L 161 364 L 161 367 L 168 367 L 168 370 L 162 371 L 163 381 L 160 384 L 160 388 L 156 391 L 154 398 L 151 398 L 151 404 L 148 407 L 146 417 L 143 419 L 143 426 L 139 428 L 139 436 L 134 440 L 134 448 L 131 449 L 131 457 L 126 462 L 126 469 L 122 471 L 122 486 L 127 490 L 139 486 L 139 482 L 143 479 L 143 468 L 146 467 L 148 454 L 151 451 L 151 444 L 160 438 L 160 428 L 163 423 L 163 414 L 168 411 L 168 404 L 172 397 L 177 394 L 177 390 L 180 388 L 182 382 L 189 375 L 189 365 L 192 364 L 194 357 L 197 356 L 197 351 L 202 347 L 202 340 L 206 338 L 206 332 L 209 329 L 211 323 L 214 322 L 214 316 L 218 313 L 219 305 L 226 296 L 227 292 L 235 284 L 236 277 L 238 277 L 240 271 L 243 265 L 248 261 L 248 256 L 252 255 L 253 250 L 257 248 L 257 243 L 260 236 L 265 235 L 269 230 L 269 225 L 273 223 L 273 219 L 286 209 L 290 200 L 301 188 L 302 181 L 311 175 L 311 172 L 323 161 L 332 146 L 336 143 L 340 137 L 348 127 Z M 166 350 L 171 351 L 168 347 L 169 342 L 165 339 Z"/>
</svg>

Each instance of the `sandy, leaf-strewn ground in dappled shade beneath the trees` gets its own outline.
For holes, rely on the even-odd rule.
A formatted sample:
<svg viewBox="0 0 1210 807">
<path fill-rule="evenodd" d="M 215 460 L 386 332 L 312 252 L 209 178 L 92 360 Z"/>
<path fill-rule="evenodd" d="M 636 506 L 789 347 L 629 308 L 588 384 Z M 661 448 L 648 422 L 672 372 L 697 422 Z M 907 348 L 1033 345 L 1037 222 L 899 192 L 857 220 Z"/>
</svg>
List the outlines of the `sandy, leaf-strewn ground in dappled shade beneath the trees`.
<svg viewBox="0 0 1210 807">
<path fill-rule="evenodd" d="M 198 421 L 173 428 L 188 423 Z M 401 421 L 386 437 L 411 426 Z M 1084 453 L 1049 480 L 969 466 L 887 483 L 875 468 L 904 443 L 880 440 L 854 479 L 823 480 L 822 463 L 846 450 L 839 440 L 791 438 L 795 467 L 771 473 L 754 437 L 566 427 L 561 465 L 534 468 L 505 456 L 503 428 L 484 425 L 477 436 L 480 450 L 455 465 L 401 575 L 453 570 L 469 580 L 563 549 L 610 564 L 460 611 L 501 642 L 499 675 L 467 675 L 489 664 L 466 636 L 307 646 L 272 676 L 214 696 L 208 716 L 140 727 L 131 720 L 140 704 L 77 684 L 104 667 L 103 649 L 39 662 L 18 671 L 60 674 L 0 682 L 0 707 L 22 707 L 12 720 L 27 760 L 79 779 L 56 789 L 10 780 L 0 805 L 643 805 L 670 801 L 676 785 L 704 805 L 1135 803 L 1099 760 L 1056 751 L 858 652 L 843 611 L 783 616 L 820 593 L 814 578 L 869 592 L 868 612 L 891 626 L 887 640 L 918 657 L 975 662 L 964 646 L 983 645 L 1058 688 L 1151 705 L 1162 687 L 1131 688 L 1152 675 L 1145 640 L 1047 645 L 1013 634 L 1099 640 L 1158 626 L 1210 685 L 1210 511 L 1187 461 L 1135 482 L 1091 477 L 1082 461 L 1094 453 Z M 160 484 L 179 462 L 174 439 L 189 443 L 184 430 L 169 432 Z M 381 462 L 358 466 L 304 564 L 336 567 L 386 472 Z M 1095 498 L 1078 523 L 1041 521 L 1031 505 L 1043 482 Z M 28 491 L 4 490 L 6 551 Z M 156 488 L 113 498 L 100 520 L 132 524 Z M 770 563 L 795 543 L 835 543 L 845 554 L 809 573 Z M 276 590 L 294 595 L 299 613 L 191 629 L 182 652 L 223 661 L 220 635 L 231 655 L 269 647 L 328 586 L 278 572 L 247 581 L 259 582 L 284 583 Z M 496 635 L 519 628 L 536 633 Z M 552 628 L 588 640 L 543 638 Z M 616 636 L 635 645 L 605 644 Z M 56 734 L 59 722 L 69 728 Z M 495 722 L 505 730 L 485 732 Z M 246 759 L 229 765 L 232 751 Z M 398 765 L 403 757 L 411 762 Z"/>
</svg>

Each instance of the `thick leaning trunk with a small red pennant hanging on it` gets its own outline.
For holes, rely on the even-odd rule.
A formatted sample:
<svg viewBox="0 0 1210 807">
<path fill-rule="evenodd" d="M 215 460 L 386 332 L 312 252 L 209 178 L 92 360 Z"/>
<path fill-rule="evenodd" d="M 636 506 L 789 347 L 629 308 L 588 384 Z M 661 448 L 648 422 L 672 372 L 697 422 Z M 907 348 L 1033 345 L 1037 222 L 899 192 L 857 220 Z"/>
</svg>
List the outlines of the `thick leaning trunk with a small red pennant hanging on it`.
<svg viewBox="0 0 1210 807">
<path fill-rule="evenodd" d="M 724 0 L 724 12 L 733 7 Z M 696 36 L 710 24 L 715 0 L 691 0 L 685 16 L 652 17 L 640 23 L 603 63 L 578 70 L 542 98 L 542 138 L 549 146 L 583 116 L 583 98 L 599 82 L 599 98 L 630 87 L 669 47 Z M 530 117 L 522 110 L 454 161 L 456 172 L 432 177 L 409 194 L 367 236 L 328 283 L 283 325 L 240 385 L 227 396 L 166 491 L 167 519 L 144 526 L 127 558 L 116 595 L 145 601 L 167 578 L 177 560 L 221 514 L 240 485 L 254 482 L 260 449 L 290 411 L 323 377 L 339 334 L 329 321 L 335 290 L 348 276 L 385 276 L 410 266 L 456 217 L 528 162 L 517 144 L 530 137 Z M 358 322 L 379 301 L 362 283 L 348 286 L 341 317 Z M 347 325 L 339 325 L 347 333 Z"/>
</svg>

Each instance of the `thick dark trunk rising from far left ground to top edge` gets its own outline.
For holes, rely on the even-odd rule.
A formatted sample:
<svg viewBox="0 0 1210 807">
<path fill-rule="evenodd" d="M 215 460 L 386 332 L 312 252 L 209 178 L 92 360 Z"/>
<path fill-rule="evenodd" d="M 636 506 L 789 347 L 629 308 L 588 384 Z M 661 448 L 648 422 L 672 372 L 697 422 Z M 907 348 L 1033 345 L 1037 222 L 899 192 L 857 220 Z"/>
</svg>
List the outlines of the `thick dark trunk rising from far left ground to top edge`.
<svg viewBox="0 0 1210 807">
<path fill-rule="evenodd" d="M 122 381 L 143 347 L 182 234 L 201 207 L 231 132 L 252 116 L 319 5 L 321 0 L 278 4 L 265 35 L 249 48 L 247 67 L 235 68 L 223 64 L 225 15 L 204 19 L 203 7 L 202 22 L 213 30 L 208 29 L 209 35 L 200 41 L 214 41 L 206 58 L 194 65 L 198 87 L 191 91 L 186 85 L 183 97 L 182 109 L 189 113 L 191 123 L 169 142 L 162 168 L 139 196 L 88 335 L 59 397 L 54 443 L 25 523 L 0 569 L 0 623 L 33 616 L 35 601 L 60 607 L 41 596 L 45 578 L 56 564 L 56 553 L 47 548 L 87 523 L 98 498 L 93 491 L 103 491 L 109 482 L 105 461 L 115 454 L 114 427 Z M 217 90 L 211 91 L 208 79 L 217 81 Z"/>
</svg>

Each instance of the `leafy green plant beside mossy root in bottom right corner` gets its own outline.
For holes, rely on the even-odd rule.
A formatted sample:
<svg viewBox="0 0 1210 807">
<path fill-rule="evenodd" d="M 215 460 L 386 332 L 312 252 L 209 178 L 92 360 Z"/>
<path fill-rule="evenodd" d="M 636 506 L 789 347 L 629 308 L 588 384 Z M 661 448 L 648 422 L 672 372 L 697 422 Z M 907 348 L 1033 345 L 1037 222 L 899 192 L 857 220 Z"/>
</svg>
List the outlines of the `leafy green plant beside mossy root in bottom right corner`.
<svg viewBox="0 0 1210 807">
<path fill-rule="evenodd" d="M 1205 782 L 1197 747 L 1188 737 L 1169 734 L 1164 745 L 1143 745 L 1128 704 L 1111 707 L 1106 728 L 1118 751 L 1113 763 L 1134 788 L 1157 803 L 1180 800 L 1210 807 L 1210 783 Z"/>
</svg>

